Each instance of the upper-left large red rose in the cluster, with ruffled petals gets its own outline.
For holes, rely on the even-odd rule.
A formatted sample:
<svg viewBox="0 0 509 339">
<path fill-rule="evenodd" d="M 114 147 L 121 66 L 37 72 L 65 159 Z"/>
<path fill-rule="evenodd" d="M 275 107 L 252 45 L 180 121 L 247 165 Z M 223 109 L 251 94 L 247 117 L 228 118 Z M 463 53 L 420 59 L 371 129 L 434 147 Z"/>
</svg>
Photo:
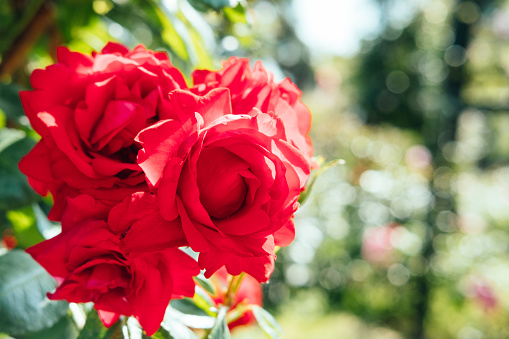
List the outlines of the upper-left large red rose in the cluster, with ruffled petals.
<svg viewBox="0 0 509 339">
<path fill-rule="evenodd" d="M 134 137 L 161 118 L 167 93 L 186 88 L 165 53 L 109 43 L 92 56 L 59 48 L 58 63 L 31 76 L 21 92 L 25 113 L 42 139 L 19 164 L 60 220 L 66 198 L 88 194 L 105 215 L 132 192 L 146 189 Z M 165 117 L 163 117 L 165 118 Z"/>
</svg>

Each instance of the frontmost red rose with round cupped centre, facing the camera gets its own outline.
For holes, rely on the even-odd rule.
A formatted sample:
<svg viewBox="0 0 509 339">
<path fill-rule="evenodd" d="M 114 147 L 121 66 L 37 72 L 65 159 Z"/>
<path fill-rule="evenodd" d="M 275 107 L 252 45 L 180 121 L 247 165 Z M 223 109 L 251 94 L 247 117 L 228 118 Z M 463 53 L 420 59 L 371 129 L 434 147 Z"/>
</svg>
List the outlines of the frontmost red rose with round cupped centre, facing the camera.
<svg viewBox="0 0 509 339">
<path fill-rule="evenodd" d="M 274 247 L 294 238 L 292 215 L 309 177 L 305 156 L 287 141 L 280 117 L 231 114 L 227 89 L 204 97 L 173 91 L 169 102 L 180 120 L 160 121 L 137 137 L 153 193 L 116 206 L 110 226 L 126 238 L 150 227 L 158 237 L 134 243 L 138 251 L 187 241 L 207 277 L 226 266 L 232 275 L 267 281 Z M 183 233 L 168 231 L 179 224 Z"/>
</svg>

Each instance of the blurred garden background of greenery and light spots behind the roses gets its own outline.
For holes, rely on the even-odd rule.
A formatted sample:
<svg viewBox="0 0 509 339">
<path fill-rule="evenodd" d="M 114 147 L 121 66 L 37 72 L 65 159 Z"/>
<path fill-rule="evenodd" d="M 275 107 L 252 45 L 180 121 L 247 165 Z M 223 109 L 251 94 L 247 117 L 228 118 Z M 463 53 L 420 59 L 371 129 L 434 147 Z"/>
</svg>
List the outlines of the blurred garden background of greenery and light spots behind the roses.
<svg viewBox="0 0 509 339">
<path fill-rule="evenodd" d="M 286 337 L 509 337 L 509 1 L 2 0 L 0 36 L 0 251 L 55 231 L 17 170 L 37 138 L 17 93 L 56 46 L 143 43 L 187 75 L 246 56 L 341 159 L 264 286 Z"/>
</svg>

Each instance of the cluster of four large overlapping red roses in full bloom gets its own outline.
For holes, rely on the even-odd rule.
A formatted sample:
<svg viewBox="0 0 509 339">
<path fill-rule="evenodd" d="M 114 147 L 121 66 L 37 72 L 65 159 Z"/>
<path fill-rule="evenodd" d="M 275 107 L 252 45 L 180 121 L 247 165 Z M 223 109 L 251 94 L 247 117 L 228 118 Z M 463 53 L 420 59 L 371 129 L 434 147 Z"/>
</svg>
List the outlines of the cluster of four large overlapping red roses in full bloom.
<svg viewBox="0 0 509 339">
<path fill-rule="evenodd" d="M 59 282 L 52 299 L 92 301 L 106 325 L 133 315 L 151 334 L 200 269 L 269 279 L 313 163 L 310 113 L 261 63 L 231 58 L 193 81 L 164 53 L 113 43 L 60 48 L 33 72 L 21 99 L 41 140 L 19 167 L 62 223 L 27 250 Z"/>
</svg>

